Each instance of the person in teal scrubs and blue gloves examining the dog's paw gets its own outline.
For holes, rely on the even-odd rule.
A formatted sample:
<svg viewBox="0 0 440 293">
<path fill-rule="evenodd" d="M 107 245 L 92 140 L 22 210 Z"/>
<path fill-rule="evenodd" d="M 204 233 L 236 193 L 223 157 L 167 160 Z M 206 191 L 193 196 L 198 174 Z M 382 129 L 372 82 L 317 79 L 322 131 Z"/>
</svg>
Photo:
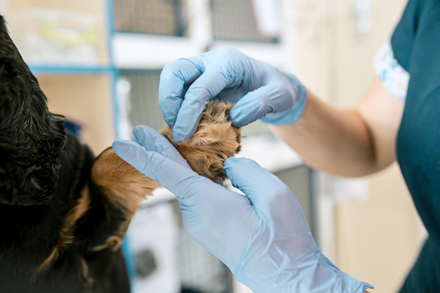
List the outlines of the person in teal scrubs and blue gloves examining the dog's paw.
<svg viewBox="0 0 440 293">
<path fill-rule="evenodd" d="M 231 121 L 259 119 L 311 167 L 365 176 L 399 162 L 429 237 L 400 292 L 440 290 L 440 1 L 410 0 L 377 53 L 378 78 L 353 110 L 326 105 L 294 74 L 231 48 L 164 67 L 159 103 L 174 138 L 189 138 L 213 98 L 233 101 Z M 172 191 L 186 229 L 254 292 L 367 292 L 318 249 L 301 207 L 276 176 L 250 159 L 224 167 L 245 196 L 190 170 L 153 129 L 117 154 Z"/>
</svg>

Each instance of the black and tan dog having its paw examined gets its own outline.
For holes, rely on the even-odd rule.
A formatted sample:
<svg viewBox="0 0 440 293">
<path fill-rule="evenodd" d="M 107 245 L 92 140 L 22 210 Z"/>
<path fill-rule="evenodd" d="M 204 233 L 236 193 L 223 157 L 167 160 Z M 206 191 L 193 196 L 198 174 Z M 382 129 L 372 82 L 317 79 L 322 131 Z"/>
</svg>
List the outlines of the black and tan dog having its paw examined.
<svg viewBox="0 0 440 293">
<path fill-rule="evenodd" d="M 225 178 L 224 159 L 240 150 L 229 108 L 202 118 L 214 129 L 200 136 L 215 139 L 195 136 L 181 149 L 214 181 Z M 49 112 L 0 16 L 0 292 L 128 293 L 120 245 L 141 201 L 159 185 L 111 148 L 95 157 L 63 121 Z"/>
</svg>

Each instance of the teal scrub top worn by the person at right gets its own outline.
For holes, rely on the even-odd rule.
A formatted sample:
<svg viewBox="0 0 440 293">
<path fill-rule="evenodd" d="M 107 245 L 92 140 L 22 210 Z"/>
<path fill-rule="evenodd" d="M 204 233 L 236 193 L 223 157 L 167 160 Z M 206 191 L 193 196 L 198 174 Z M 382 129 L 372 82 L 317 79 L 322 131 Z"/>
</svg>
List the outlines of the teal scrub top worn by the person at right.
<svg viewBox="0 0 440 293">
<path fill-rule="evenodd" d="M 440 0 L 410 0 L 392 36 L 410 74 L 396 154 L 429 237 L 401 293 L 440 292 Z"/>
</svg>

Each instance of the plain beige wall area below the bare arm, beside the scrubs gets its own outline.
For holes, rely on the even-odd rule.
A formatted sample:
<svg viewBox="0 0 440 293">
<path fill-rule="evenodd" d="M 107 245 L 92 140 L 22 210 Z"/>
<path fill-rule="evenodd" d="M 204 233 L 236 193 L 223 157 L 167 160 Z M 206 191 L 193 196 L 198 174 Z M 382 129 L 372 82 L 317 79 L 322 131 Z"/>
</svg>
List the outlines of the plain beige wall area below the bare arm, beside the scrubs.
<svg viewBox="0 0 440 293">
<path fill-rule="evenodd" d="M 396 164 L 368 180 L 367 201 L 336 207 L 335 261 L 375 285 L 375 292 L 396 292 L 415 261 L 423 230 Z"/>
</svg>

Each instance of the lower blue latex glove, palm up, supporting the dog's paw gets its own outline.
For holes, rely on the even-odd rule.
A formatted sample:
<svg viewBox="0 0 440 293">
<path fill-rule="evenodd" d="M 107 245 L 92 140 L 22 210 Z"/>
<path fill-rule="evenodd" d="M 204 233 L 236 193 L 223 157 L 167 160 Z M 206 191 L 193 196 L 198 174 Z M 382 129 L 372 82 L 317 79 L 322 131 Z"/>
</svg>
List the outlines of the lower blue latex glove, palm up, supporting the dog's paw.
<svg viewBox="0 0 440 293">
<path fill-rule="evenodd" d="M 316 246 L 299 202 L 276 176 L 250 159 L 224 168 L 246 196 L 196 174 L 157 131 L 134 129 L 136 143 L 113 149 L 176 195 L 183 224 L 254 292 L 363 293 L 370 285 L 339 271 Z"/>
</svg>

